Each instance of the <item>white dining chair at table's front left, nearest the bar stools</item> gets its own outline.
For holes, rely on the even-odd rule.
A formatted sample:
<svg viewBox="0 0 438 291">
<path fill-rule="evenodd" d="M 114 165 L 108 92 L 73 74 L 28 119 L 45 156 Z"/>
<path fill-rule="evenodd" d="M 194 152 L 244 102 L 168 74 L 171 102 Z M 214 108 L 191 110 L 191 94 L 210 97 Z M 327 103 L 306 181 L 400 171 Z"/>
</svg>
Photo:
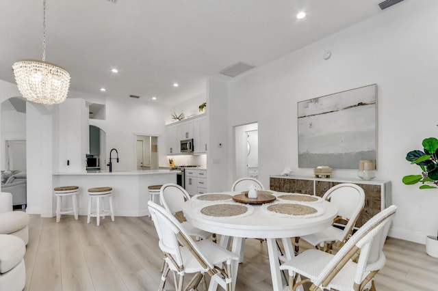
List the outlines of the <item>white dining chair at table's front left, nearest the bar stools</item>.
<svg viewBox="0 0 438 291">
<path fill-rule="evenodd" d="M 164 253 L 165 264 L 158 290 L 164 290 L 168 272 L 172 271 L 179 277 L 175 282 L 178 291 L 197 290 L 206 273 L 211 276 L 209 291 L 217 290 L 218 285 L 231 291 L 235 280 L 232 277 L 231 260 L 238 260 L 237 255 L 211 240 L 195 242 L 183 225 L 162 206 L 149 201 L 148 208 L 157 230 L 159 248 Z M 183 288 L 186 273 L 195 275 Z"/>
</svg>

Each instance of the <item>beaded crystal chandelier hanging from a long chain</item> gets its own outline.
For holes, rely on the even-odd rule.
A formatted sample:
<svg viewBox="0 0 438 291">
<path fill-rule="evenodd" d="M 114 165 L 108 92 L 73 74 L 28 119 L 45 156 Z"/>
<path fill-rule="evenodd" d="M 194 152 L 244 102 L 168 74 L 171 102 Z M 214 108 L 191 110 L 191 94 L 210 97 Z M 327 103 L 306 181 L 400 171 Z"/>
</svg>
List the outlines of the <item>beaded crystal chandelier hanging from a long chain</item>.
<svg viewBox="0 0 438 291">
<path fill-rule="evenodd" d="M 46 59 L 46 0 L 43 2 L 42 61 L 23 59 L 12 66 L 18 90 L 27 100 L 42 104 L 59 104 L 67 98 L 70 74 Z"/>
</svg>

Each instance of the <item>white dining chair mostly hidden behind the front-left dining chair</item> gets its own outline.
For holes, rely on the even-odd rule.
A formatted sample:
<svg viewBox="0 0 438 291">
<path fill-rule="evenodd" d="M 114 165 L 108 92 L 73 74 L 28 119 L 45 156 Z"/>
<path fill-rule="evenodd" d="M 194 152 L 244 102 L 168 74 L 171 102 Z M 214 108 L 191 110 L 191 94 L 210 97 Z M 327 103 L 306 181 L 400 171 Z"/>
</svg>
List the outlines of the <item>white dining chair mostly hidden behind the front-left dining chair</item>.
<svg viewBox="0 0 438 291">
<path fill-rule="evenodd" d="M 175 215 L 179 222 L 182 223 L 184 229 L 191 236 L 195 236 L 198 239 L 207 239 L 211 236 L 211 232 L 205 232 L 192 226 L 188 221 L 185 221 L 183 214 L 183 203 L 190 200 L 190 195 L 183 189 L 183 187 L 177 184 L 164 184 L 159 189 L 159 202 L 170 213 Z"/>
</svg>

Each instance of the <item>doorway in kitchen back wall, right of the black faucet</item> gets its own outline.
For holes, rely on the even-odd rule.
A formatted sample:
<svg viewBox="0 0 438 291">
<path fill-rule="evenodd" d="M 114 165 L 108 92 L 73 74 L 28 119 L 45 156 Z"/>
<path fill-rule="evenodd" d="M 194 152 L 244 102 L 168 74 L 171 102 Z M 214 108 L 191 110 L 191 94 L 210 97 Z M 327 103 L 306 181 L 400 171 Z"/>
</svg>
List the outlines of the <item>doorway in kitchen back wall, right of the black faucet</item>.
<svg viewBox="0 0 438 291">
<path fill-rule="evenodd" d="M 158 138 L 136 135 L 136 169 L 158 169 Z"/>
</svg>

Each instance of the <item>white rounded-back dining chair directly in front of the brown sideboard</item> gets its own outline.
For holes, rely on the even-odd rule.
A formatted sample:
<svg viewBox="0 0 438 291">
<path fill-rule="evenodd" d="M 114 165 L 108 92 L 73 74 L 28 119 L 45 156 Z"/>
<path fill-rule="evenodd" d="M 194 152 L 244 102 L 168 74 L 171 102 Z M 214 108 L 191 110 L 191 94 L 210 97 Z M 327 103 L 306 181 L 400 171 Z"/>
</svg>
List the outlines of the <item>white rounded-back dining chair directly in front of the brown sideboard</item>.
<svg viewBox="0 0 438 291">
<path fill-rule="evenodd" d="M 301 236 L 299 239 L 305 240 L 323 251 L 330 252 L 333 244 L 338 242 L 342 245 L 351 236 L 365 204 L 365 192 L 357 184 L 342 183 L 331 187 L 322 198 L 335 204 L 338 209 L 337 217 L 333 219 L 333 225 L 321 232 Z M 342 225 L 341 222 L 344 221 L 346 224 Z M 296 238 L 296 253 L 298 253 L 298 248 L 298 238 Z"/>
</svg>

